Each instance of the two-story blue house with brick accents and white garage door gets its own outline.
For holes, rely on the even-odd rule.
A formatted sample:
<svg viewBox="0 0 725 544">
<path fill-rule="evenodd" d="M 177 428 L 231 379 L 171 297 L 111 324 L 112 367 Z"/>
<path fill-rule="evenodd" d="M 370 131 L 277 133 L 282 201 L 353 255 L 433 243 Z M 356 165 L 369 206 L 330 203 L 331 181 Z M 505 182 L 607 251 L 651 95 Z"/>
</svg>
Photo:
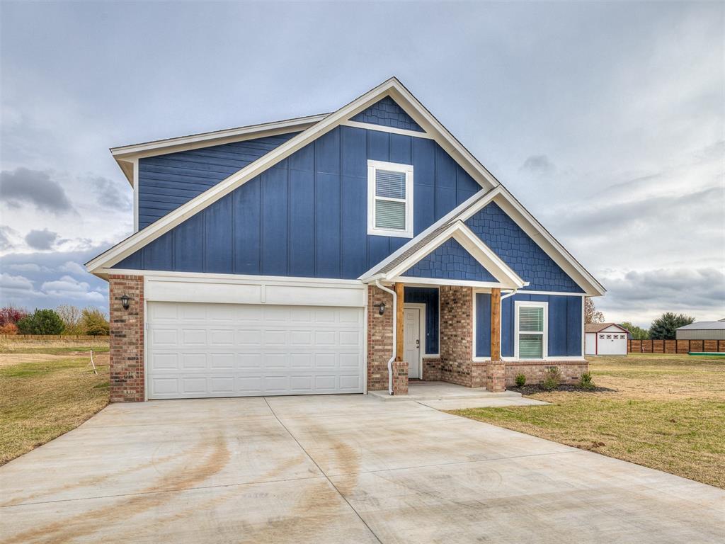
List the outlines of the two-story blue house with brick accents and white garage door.
<svg viewBox="0 0 725 544">
<path fill-rule="evenodd" d="M 112 154 L 136 231 L 87 268 L 110 284 L 114 401 L 587 370 L 605 289 L 396 78 Z"/>
</svg>

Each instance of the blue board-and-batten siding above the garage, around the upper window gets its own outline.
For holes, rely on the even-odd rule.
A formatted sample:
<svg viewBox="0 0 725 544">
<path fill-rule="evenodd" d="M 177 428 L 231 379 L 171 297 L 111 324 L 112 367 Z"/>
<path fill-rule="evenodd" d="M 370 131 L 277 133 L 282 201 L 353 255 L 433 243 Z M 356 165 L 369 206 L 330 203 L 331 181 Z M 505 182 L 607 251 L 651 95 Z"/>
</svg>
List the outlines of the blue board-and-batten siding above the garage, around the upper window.
<svg viewBox="0 0 725 544">
<path fill-rule="evenodd" d="M 341 126 L 115 268 L 355 279 L 408 240 L 368 236 L 368 160 L 413 165 L 415 234 L 481 190 L 431 139 Z"/>
</svg>

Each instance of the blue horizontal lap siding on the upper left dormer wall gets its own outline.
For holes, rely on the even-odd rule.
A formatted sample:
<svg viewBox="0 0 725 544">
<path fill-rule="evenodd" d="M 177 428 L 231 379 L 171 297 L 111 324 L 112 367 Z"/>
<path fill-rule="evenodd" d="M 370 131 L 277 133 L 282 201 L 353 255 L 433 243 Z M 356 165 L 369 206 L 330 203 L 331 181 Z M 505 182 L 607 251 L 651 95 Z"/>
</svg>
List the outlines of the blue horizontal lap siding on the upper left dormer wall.
<svg viewBox="0 0 725 544">
<path fill-rule="evenodd" d="M 138 160 L 138 228 L 279 147 L 297 133 L 191 149 Z"/>
</svg>

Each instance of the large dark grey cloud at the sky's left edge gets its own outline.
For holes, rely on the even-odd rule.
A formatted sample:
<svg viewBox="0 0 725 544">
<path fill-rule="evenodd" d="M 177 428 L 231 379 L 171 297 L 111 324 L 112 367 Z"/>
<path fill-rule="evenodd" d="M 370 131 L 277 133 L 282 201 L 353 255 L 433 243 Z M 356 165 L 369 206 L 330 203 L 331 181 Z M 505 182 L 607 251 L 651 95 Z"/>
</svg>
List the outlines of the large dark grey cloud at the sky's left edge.
<svg viewBox="0 0 725 544">
<path fill-rule="evenodd" d="M 65 189 L 41 170 L 3 170 L 0 172 L 0 195 L 11 207 L 32 204 L 38 210 L 54 214 L 74 211 Z"/>
</svg>

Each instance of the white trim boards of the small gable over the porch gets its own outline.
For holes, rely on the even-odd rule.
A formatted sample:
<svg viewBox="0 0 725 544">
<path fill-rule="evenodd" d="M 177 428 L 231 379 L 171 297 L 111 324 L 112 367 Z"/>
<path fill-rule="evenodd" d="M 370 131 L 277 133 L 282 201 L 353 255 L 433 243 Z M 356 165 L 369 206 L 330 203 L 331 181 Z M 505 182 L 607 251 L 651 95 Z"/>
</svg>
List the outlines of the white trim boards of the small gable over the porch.
<svg viewBox="0 0 725 544">
<path fill-rule="evenodd" d="M 471 229 L 463 224 L 463 221 L 459 220 L 447 223 L 445 226 L 434 229 L 427 236 L 423 236 L 418 243 L 414 244 L 415 249 L 411 248 L 409 251 L 402 252 L 397 258 L 381 267 L 378 273 L 366 277 L 364 281 L 405 281 L 405 279 L 399 278 L 402 273 L 430 255 L 449 239 L 455 239 L 497 281 L 497 285 L 485 281 L 472 282 L 472 284 L 481 284 L 481 286 L 486 284 L 485 287 L 502 287 L 503 289 L 520 289 L 528 285 L 476 234 L 473 234 Z M 411 281 L 414 280 L 411 279 Z"/>
</svg>

